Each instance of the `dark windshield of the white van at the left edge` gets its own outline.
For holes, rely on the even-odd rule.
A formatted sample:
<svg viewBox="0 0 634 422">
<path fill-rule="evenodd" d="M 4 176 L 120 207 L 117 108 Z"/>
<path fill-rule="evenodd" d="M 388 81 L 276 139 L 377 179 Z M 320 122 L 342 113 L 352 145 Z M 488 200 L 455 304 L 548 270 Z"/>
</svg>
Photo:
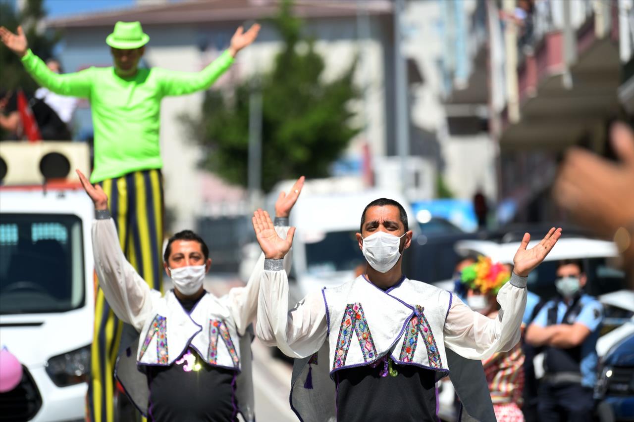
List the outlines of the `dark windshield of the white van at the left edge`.
<svg viewBox="0 0 634 422">
<path fill-rule="evenodd" d="M 65 312 L 84 304 L 81 219 L 2 214 L 0 314 Z"/>
</svg>

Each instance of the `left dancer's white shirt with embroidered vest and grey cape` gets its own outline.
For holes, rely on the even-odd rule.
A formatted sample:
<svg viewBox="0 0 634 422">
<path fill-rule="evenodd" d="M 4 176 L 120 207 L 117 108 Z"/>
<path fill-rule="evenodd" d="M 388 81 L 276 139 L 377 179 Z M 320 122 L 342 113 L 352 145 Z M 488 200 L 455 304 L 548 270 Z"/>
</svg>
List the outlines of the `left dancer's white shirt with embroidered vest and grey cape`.
<svg viewBox="0 0 634 422">
<path fill-rule="evenodd" d="M 278 226 L 276 231 L 284 237 L 288 227 Z M 264 254 L 247 286 L 232 288 L 220 298 L 206 292 L 191 312 L 186 312 L 174 291 L 162 296 L 150 290 L 127 262 L 112 219 L 94 221 L 92 234 L 94 266 L 108 305 L 121 321 L 140 333 L 136 345 L 120 354 L 116 369 L 117 378 L 139 410 L 147 414 L 149 397 L 148 380 L 140 371 L 147 366 L 171 366 L 187 350 L 193 350 L 206 364 L 235 371 L 236 411 L 244 419 L 254 419 L 249 326 L 256 316 Z M 290 266 L 290 259 L 285 264 Z"/>
</svg>

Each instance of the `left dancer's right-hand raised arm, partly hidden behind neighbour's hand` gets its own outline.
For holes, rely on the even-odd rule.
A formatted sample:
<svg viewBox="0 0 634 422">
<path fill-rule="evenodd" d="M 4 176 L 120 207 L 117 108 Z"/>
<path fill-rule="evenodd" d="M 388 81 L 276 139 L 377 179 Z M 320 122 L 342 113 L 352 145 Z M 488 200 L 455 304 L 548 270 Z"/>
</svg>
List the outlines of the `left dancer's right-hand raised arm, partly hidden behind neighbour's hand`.
<svg viewBox="0 0 634 422">
<path fill-rule="evenodd" d="M 297 179 L 290 192 L 281 192 L 275 203 L 275 231 L 280 238 L 285 239 L 288 234 L 288 217 L 299 194 L 304 186 L 304 176 Z M 283 269 L 290 271 L 291 253 L 288 252 L 283 259 Z M 264 253 L 257 260 L 256 266 L 249 277 L 245 287 L 233 288 L 229 291 L 228 299 L 231 303 L 231 312 L 238 328 L 238 333 L 242 335 L 251 321 L 256 317 L 257 295 L 260 290 L 260 281 L 264 271 Z"/>
</svg>

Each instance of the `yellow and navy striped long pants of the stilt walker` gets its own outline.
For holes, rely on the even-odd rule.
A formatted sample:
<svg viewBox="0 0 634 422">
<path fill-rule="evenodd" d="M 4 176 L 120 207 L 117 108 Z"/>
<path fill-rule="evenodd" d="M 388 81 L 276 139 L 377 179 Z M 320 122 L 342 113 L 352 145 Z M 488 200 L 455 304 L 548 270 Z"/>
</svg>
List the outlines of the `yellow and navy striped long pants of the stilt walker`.
<svg viewBox="0 0 634 422">
<path fill-rule="evenodd" d="M 126 259 L 150 288 L 162 291 L 163 181 L 160 170 L 142 170 L 99 183 L 108 195 Z M 95 280 L 96 281 L 96 280 Z M 88 390 L 90 420 L 113 422 L 113 377 L 124 323 L 119 321 L 96 286 L 91 380 Z M 125 345 L 124 345 L 125 346 Z"/>
</svg>

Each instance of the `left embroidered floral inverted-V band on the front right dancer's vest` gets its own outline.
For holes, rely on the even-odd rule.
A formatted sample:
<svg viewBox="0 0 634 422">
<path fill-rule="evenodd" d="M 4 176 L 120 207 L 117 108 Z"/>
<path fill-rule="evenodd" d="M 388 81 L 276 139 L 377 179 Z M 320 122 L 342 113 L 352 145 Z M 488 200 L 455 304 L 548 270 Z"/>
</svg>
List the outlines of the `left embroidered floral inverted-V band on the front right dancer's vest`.
<svg viewBox="0 0 634 422">
<path fill-rule="evenodd" d="M 337 349 L 335 350 L 335 360 L 332 362 L 332 369 L 342 368 L 346 364 L 346 356 L 350 343 L 353 340 L 353 332 L 359 340 L 359 347 L 363 352 L 363 361 L 373 361 L 377 357 L 377 349 L 372 340 L 368 321 L 363 314 L 361 304 L 348 304 L 344 312 L 344 318 L 339 328 L 339 336 L 337 337 Z"/>
</svg>

